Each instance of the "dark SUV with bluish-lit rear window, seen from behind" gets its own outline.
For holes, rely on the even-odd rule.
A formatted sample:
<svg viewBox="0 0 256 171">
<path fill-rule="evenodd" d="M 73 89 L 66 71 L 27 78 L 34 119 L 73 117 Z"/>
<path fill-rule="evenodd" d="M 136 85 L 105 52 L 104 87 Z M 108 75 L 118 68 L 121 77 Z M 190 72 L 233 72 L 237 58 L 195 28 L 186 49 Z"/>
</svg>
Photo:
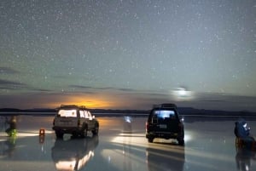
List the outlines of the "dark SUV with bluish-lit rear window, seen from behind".
<svg viewBox="0 0 256 171">
<path fill-rule="evenodd" d="M 179 145 L 184 144 L 184 127 L 177 107 L 174 104 L 154 105 L 146 123 L 146 138 L 176 139 Z"/>
</svg>

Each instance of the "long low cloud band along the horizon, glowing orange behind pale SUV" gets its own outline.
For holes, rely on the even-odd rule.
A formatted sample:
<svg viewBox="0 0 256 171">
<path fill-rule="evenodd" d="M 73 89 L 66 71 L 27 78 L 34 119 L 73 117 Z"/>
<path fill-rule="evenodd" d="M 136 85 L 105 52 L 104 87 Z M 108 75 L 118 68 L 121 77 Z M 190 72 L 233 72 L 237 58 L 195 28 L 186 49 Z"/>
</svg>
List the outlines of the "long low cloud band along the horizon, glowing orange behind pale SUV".
<svg viewBox="0 0 256 171">
<path fill-rule="evenodd" d="M 13 82 L 0 80 L 5 85 Z M 17 83 L 19 85 L 19 83 Z M 21 84 L 20 86 L 22 86 Z M 176 100 L 165 91 L 100 91 L 102 88 L 89 88 L 89 91 L 50 92 L 47 89 L 34 88 L 36 92 L 26 94 L 5 94 L 0 96 L 0 108 L 54 108 L 61 104 L 86 105 L 89 108 L 105 109 L 137 109 L 149 110 L 154 104 L 175 103 L 178 107 L 194 107 L 197 109 L 224 111 L 256 111 L 256 97 L 233 94 L 197 93 L 192 100 Z M 103 88 L 106 89 L 106 88 Z M 114 90 L 113 90 L 114 89 Z M 87 89 L 88 90 L 88 89 Z M 98 91 L 97 91 L 98 90 Z"/>
</svg>

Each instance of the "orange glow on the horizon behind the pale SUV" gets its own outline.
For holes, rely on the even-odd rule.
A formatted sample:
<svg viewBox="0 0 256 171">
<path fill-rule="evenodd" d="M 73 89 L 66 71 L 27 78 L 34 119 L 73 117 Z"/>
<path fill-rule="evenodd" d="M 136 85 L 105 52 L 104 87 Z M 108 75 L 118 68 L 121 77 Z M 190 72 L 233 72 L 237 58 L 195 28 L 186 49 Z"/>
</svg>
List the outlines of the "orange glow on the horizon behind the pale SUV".
<svg viewBox="0 0 256 171">
<path fill-rule="evenodd" d="M 102 91 L 94 94 L 63 93 L 44 94 L 33 99 L 30 106 L 36 108 L 58 108 L 61 105 L 85 105 L 90 109 L 139 109 L 140 100 L 134 94 L 120 94 L 119 92 Z M 26 107 L 31 108 L 31 107 Z"/>
</svg>

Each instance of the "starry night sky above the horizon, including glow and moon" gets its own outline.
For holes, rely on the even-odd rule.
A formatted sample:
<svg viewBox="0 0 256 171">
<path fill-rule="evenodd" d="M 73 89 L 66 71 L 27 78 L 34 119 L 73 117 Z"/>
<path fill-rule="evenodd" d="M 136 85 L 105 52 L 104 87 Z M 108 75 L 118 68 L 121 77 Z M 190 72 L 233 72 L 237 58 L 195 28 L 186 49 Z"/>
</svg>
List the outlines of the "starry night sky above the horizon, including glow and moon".
<svg viewBox="0 0 256 171">
<path fill-rule="evenodd" d="M 253 0 L 2 0 L 0 108 L 256 111 Z"/>
</svg>

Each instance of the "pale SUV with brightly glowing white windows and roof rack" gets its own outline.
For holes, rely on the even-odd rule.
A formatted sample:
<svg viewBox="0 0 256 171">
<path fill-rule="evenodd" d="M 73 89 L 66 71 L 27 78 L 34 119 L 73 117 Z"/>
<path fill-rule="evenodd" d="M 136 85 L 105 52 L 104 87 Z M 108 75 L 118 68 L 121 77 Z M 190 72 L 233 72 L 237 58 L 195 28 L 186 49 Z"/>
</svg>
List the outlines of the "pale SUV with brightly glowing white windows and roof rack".
<svg viewBox="0 0 256 171">
<path fill-rule="evenodd" d="M 86 137 L 88 131 L 98 134 L 99 123 L 85 106 L 61 105 L 53 121 L 53 130 L 60 139 L 63 134 Z"/>
</svg>

